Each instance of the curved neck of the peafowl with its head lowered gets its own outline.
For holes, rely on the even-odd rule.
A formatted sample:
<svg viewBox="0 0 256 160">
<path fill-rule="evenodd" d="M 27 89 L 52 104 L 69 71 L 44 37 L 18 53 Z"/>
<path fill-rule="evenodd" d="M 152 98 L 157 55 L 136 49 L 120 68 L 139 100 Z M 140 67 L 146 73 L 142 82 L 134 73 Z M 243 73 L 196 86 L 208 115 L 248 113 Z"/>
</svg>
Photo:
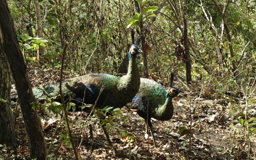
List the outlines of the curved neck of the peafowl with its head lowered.
<svg viewBox="0 0 256 160">
<path fill-rule="evenodd" d="M 170 118 L 172 118 L 174 108 L 172 104 L 172 97 L 170 97 L 168 93 L 166 94 L 164 104 L 156 108 L 155 111 L 156 115 L 154 116 L 154 118 L 156 118 L 157 120 L 170 120 Z"/>
</svg>

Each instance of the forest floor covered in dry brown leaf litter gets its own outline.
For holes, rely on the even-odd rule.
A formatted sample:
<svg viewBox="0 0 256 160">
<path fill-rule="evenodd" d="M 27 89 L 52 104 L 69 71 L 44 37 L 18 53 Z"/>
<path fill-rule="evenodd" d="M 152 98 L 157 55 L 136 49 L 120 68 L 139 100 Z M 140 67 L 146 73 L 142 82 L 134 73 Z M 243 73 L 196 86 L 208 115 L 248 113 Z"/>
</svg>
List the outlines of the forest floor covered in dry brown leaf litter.
<svg viewBox="0 0 256 160">
<path fill-rule="evenodd" d="M 58 81 L 58 71 L 29 70 L 32 86 L 51 84 Z M 69 78 L 69 72 L 64 73 Z M 179 86 L 179 85 L 177 85 Z M 182 84 L 180 84 L 182 86 Z M 196 85 L 195 85 L 196 86 Z M 193 87 L 192 87 L 193 88 Z M 70 113 L 72 133 L 75 144 L 82 159 L 91 160 L 244 160 L 248 157 L 248 139 L 246 127 L 239 125 L 245 108 L 244 98 L 234 98 L 222 94 L 211 93 L 200 95 L 201 88 L 180 94 L 173 99 L 174 116 L 168 121 L 152 119 L 157 147 L 150 133 L 145 131 L 145 123 L 136 112 L 122 108 L 120 114 L 108 117 L 108 132 L 113 143 L 109 147 L 100 127 L 98 118 L 86 121 L 82 112 Z M 18 107 L 19 108 L 19 107 Z M 191 119 L 190 119 L 191 109 Z M 256 117 L 256 107 L 250 107 L 250 116 Z M 29 143 L 20 109 L 16 114 L 16 134 L 19 146 L 11 150 L 0 145 L 0 160 L 27 159 Z M 198 116 L 199 113 L 199 116 Z M 62 116 L 45 111 L 38 111 L 50 160 L 74 159 L 72 148 L 66 134 L 66 126 Z M 88 123 L 87 123 L 88 122 Z M 191 140 L 189 134 L 192 126 Z M 92 124 L 95 143 L 88 139 L 88 124 Z M 185 126 L 187 133 L 180 134 Z M 249 135 L 249 158 L 256 160 L 256 136 Z M 101 142 L 97 144 L 97 142 Z M 190 151 L 191 142 L 191 151 Z M 104 144 L 104 145 L 101 145 Z M 49 149 L 50 148 L 50 149 Z"/>
</svg>

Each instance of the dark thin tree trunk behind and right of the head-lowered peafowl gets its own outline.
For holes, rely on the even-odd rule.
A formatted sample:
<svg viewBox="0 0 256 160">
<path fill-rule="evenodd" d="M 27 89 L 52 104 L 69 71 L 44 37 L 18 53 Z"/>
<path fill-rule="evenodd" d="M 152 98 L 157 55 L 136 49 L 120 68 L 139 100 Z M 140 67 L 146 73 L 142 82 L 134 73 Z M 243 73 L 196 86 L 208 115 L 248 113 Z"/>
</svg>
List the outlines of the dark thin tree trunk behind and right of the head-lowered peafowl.
<svg viewBox="0 0 256 160">
<path fill-rule="evenodd" d="M 185 48 L 186 81 L 187 81 L 187 84 L 190 84 L 192 81 L 192 77 L 191 77 L 190 51 L 189 51 L 189 45 L 188 45 L 188 24 L 187 24 L 186 15 L 185 15 L 183 4 L 182 4 L 181 0 L 179 0 L 179 4 L 180 4 L 180 12 L 181 12 L 182 19 L 183 19 L 182 33 L 183 33 L 183 44 L 184 44 L 184 48 Z"/>
</svg>

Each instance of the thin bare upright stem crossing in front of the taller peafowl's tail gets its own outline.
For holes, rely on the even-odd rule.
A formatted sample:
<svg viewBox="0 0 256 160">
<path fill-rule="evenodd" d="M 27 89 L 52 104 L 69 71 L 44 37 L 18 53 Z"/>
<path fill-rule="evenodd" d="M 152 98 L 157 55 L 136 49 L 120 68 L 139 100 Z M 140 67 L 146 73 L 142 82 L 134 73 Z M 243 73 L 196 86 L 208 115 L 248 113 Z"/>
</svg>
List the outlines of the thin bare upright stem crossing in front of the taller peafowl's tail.
<svg viewBox="0 0 256 160">
<path fill-rule="evenodd" d="M 63 64 L 64 64 L 64 58 L 65 58 L 65 55 L 66 55 L 66 52 L 67 52 L 67 48 L 68 48 L 68 43 L 65 41 L 64 50 L 63 50 L 63 54 L 62 54 L 62 58 L 61 58 L 60 98 L 61 98 L 62 106 L 63 106 L 63 109 L 64 109 L 64 116 L 65 116 L 66 123 L 67 123 L 68 135 L 69 135 L 69 138 L 70 138 L 70 141 L 71 141 L 71 145 L 72 145 L 72 148 L 74 150 L 74 154 L 76 156 L 76 160 L 79 160 L 80 158 L 78 158 L 78 154 L 76 152 L 76 146 L 74 145 L 74 140 L 73 140 L 72 133 L 71 133 L 70 126 L 69 126 L 69 122 L 68 122 L 68 115 L 67 115 L 67 111 L 66 111 L 66 104 L 64 102 L 64 98 L 63 98 L 63 95 L 62 95 Z"/>
</svg>

